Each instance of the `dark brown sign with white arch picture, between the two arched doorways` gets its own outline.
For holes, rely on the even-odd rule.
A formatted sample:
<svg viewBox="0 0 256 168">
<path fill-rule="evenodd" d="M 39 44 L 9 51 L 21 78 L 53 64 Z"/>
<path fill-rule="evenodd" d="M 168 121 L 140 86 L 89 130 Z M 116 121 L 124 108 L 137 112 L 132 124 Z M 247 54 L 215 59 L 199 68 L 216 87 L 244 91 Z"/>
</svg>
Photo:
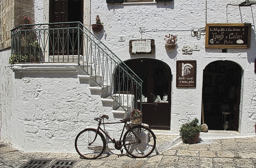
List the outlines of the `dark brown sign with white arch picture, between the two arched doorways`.
<svg viewBox="0 0 256 168">
<path fill-rule="evenodd" d="M 196 60 L 176 62 L 176 87 L 196 87 Z"/>
</svg>

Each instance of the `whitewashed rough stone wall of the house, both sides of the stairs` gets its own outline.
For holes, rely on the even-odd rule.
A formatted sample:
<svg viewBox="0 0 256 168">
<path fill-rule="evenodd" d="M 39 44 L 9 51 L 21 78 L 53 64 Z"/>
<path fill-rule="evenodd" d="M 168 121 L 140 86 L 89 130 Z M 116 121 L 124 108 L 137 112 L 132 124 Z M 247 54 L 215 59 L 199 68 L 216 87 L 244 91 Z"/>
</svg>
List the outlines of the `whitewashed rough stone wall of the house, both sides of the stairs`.
<svg viewBox="0 0 256 168">
<path fill-rule="evenodd" d="M 90 4 L 88 1 L 84 1 Z M 242 1 L 208 1 L 207 23 L 226 23 L 226 5 Z M 43 7 L 42 7 L 43 6 Z M 36 9 L 37 8 L 37 9 Z M 40 9 L 40 10 L 39 10 Z M 35 23 L 49 20 L 49 1 L 35 1 Z M 107 4 L 93 1 L 85 6 L 84 23 L 94 23 L 96 15 L 104 22 L 104 31 L 95 35 L 121 60 L 153 58 L 166 62 L 172 70 L 171 133 L 179 133 L 182 123 L 201 118 L 203 69 L 215 60 L 231 60 L 244 72 L 242 113 L 239 132 L 254 135 L 256 121 L 256 76 L 254 73 L 255 32 L 250 7 L 241 7 L 243 23 L 252 23 L 250 49 L 205 49 L 205 0 L 173 1 L 146 4 Z M 43 11 L 43 13 L 42 13 Z M 256 15 L 256 5 L 252 5 Z M 228 6 L 228 23 L 241 23 L 238 6 Z M 143 33 L 140 33 L 143 27 Z M 202 28 L 200 37 L 191 36 L 191 28 Z M 167 52 L 164 35 L 178 36 L 177 47 Z M 117 36 L 125 41 L 118 42 Z M 129 40 L 154 39 L 154 54 L 129 54 Z M 200 51 L 183 55 L 185 44 L 200 44 Z M 88 82 L 77 78 L 78 72 L 13 72 L 8 67 L 10 50 L 0 51 L 0 128 L 1 139 L 29 151 L 75 152 L 74 140 L 79 131 L 95 127 L 94 116 L 107 114 L 114 119 L 110 107 L 103 107 L 99 95 L 92 95 Z M 176 88 L 176 60 L 196 60 L 196 88 Z M 77 68 L 77 67 L 76 67 Z M 180 96 L 182 95 L 182 96 Z M 185 99 L 184 99 L 185 98 Z M 109 128 L 117 130 L 118 126 Z M 108 128 L 107 128 L 108 129 Z M 118 134 L 118 132 L 115 132 Z"/>
</svg>

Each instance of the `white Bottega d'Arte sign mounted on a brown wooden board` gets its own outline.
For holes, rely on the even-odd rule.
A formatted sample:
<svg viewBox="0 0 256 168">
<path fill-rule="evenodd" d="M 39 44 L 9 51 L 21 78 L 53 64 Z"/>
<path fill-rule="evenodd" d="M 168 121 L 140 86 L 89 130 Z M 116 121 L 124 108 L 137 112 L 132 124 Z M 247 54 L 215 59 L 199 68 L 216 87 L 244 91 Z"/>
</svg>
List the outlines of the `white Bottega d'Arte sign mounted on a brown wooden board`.
<svg viewBox="0 0 256 168">
<path fill-rule="evenodd" d="M 155 40 L 130 40 L 130 54 L 153 54 L 155 52 Z"/>
</svg>

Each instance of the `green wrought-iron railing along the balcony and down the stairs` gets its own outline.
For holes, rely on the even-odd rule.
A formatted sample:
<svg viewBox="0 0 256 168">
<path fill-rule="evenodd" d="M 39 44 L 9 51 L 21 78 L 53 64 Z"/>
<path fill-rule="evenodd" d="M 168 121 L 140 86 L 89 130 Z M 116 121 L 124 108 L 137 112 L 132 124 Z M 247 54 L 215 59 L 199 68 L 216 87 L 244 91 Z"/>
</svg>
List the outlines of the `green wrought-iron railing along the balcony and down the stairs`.
<svg viewBox="0 0 256 168">
<path fill-rule="evenodd" d="M 11 64 L 78 63 L 119 108 L 141 110 L 142 80 L 81 22 L 20 25 L 11 33 Z"/>
</svg>

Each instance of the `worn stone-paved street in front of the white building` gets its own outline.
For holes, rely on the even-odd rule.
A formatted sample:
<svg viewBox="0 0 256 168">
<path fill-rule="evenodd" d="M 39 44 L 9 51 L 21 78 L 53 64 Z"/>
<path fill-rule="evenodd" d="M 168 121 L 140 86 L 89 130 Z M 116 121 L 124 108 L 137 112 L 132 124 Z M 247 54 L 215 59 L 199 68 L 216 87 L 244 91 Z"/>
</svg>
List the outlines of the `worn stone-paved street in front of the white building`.
<svg viewBox="0 0 256 168">
<path fill-rule="evenodd" d="M 73 153 L 24 153 L 0 140 L 0 168 L 19 168 L 30 159 L 52 159 L 45 168 L 54 167 L 51 165 L 58 159 L 74 161 L 74 168 L 250 168 L 256 167 L 256 137 L 181 142 L 147 158 L 104 154 L 95 160 L 81 159 Z"/>
</svg>

